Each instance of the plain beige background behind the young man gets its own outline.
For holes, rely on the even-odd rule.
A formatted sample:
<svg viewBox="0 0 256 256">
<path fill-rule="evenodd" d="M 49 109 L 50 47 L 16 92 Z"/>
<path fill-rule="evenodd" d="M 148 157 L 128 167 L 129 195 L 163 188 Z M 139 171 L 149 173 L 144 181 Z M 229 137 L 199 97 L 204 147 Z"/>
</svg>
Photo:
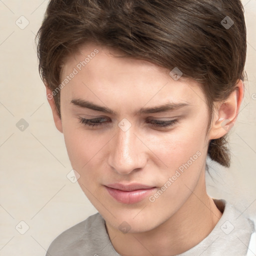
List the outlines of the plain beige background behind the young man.
<svg viewBox="0 0 256 256">
<path fill-rule="evenodd" d="M 96 212 L 77 182 L 66 177 L 71 165 L 37 70 L 34 35 L 47 2 L 0 0 L 0 255 L 43 256 L 61 231 Z M 210 162 L 214 180 L 207 176 L 207 189 L 243 214 L 255 214 L 256 0 L 242 2 L 248 82 L 230 131 L 232 165 L 225 169 Z M 22 15 L 29 21 L 24 29 L 15 23 L 25 25 Z M 29 124 L 24 131 L 16 127 L 21 118 Z M 24 234 L 26 224 L 20 221 L 29 226 Z"/>
</svg>

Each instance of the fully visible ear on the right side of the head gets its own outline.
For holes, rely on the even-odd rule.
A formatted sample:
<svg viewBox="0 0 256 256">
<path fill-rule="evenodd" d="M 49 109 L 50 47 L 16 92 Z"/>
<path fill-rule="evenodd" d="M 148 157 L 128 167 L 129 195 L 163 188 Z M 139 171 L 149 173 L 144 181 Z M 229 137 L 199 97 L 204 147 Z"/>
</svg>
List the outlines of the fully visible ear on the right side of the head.
<svg viewBox="0 0 256 256">
<path fill-rule="evenodd" d="M 243 99 L 243 89 L 242 80 L 238 80 L 235 90 L 225 101 L 217 104 L 209 139 L 220 138 L 233 127 Z"/>
</svg>

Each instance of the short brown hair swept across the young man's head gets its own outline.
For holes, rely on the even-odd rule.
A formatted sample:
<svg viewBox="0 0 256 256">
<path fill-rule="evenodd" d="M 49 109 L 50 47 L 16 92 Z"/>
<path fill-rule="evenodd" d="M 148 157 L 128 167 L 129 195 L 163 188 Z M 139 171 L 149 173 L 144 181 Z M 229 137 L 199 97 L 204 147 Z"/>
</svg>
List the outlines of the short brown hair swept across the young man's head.
<svg viewBox="0 0 256 256">
<path fill-rule="evenodd" d="M 65 58 L 88 41 L 148 60 L 202 85 L 209 122 L 213 105 L 244 80 L 246 27 L 240 0 L 50 0 L 39 28 L 39 73 L 53 91 Z M 60 116 L 60 93 L 54 96 Z M 230 166 L 226 135 L 208 155 Z"/>
</svg>

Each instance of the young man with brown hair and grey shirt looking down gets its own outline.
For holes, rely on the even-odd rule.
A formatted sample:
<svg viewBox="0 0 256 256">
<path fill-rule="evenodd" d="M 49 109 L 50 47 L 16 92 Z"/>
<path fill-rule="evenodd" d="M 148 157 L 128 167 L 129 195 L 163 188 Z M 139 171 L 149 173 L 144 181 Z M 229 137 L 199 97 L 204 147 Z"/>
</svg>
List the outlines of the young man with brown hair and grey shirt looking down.
<svg viewBox="0 0 256 256">
<path fill-rule="evenodd" d="M 254 222 L 205 187 L 207 155 L 229 167 L 243 98 L 241 2 L 50 0 L 37 38 L 56 128 L 98 210 L 47 255 L 251 253 Z"/>
</svg>

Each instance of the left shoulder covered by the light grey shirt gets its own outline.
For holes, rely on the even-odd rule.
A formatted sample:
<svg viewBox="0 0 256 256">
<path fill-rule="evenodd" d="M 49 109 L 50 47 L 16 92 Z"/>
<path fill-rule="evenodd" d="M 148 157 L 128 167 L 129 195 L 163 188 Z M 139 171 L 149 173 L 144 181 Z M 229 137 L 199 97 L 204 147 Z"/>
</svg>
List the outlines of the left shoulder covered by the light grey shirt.
<svg viewBox="0 0 256 256">
<path fill-rule="evenodd" d="M 46 256 L 85 255 L 85 251 L 93 252 L 95 240 L 104 235 L 104 228 L 104 219 L 97 212 L 59 234 L 51 242 Z"/>
</svg>

